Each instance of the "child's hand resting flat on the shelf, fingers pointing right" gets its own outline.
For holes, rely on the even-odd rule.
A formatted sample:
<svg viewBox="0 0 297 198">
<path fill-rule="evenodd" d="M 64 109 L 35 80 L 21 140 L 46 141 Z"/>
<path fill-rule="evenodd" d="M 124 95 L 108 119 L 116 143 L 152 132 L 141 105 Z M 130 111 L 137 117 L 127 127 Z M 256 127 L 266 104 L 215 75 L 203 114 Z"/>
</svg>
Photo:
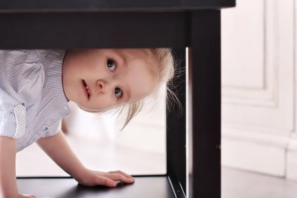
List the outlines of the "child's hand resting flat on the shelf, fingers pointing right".
<svg viewBox="0 0 297 198">
<path fill-rule="evenodd" d="M 134 183 L 134 178 L 122 171 L 109 171 L 106 173 L 86 169 L 82 174 L 82 178 L 76 181 L 84 186 L 103 185 L 115 187 L 117 181 L 131 184 Z"/>
</svg>

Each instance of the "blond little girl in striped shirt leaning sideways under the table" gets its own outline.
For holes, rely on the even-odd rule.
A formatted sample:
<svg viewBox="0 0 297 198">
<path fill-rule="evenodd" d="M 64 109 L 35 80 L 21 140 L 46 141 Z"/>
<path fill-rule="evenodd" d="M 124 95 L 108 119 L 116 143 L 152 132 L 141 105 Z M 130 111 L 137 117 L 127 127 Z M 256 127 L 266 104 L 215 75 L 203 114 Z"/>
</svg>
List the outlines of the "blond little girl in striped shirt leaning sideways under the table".
<svg viewBox="0 0 297 198">
<path fill-rule="evenodd" d="M 68 101 L 91 112 L 128 107 L 125 125 L 174 73 L 170 49 L 0 50 L 0 198 L 18 192 L 16 152 L 34 142 L 85 186 L 133 183 L 122 171 L 83 166 L 66 142 Z"/>
</svg>

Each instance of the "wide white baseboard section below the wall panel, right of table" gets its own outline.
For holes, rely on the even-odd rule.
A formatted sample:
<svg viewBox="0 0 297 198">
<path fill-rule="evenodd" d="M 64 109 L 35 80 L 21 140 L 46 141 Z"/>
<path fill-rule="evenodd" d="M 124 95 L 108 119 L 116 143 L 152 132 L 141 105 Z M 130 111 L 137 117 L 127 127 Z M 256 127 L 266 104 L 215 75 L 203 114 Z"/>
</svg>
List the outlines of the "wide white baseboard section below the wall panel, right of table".
<svg viewBox="0 0 297 198">
<path fill-rule="evenodd" d="M 290 133 L 223 126 L 222 165 L 285 177 Z"/>
</svg>

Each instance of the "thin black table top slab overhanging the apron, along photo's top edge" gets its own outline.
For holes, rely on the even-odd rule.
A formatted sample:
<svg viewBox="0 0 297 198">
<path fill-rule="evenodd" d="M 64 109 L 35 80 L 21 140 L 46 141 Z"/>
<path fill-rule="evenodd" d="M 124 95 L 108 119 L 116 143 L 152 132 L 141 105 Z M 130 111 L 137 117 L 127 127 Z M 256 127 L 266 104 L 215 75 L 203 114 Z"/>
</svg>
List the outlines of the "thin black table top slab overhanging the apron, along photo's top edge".
<svg viewBox="0 0 297 198">
<path fill-rule="evenodd" d="M 149 11 L 234 7 L 235 0 L 1 0 L 0 12 Z"/>
</svg>

